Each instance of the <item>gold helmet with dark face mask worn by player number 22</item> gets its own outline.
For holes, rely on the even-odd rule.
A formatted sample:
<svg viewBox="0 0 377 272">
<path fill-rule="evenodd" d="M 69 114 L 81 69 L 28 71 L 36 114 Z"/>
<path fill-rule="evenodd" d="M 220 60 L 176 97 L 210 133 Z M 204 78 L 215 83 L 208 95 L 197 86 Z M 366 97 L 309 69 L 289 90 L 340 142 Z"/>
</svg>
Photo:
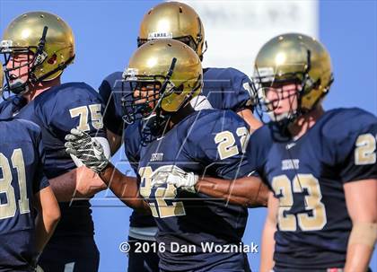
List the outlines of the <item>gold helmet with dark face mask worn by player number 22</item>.
<svg viewBox="0 0 377 272">
<path fill-rule="evenodd" d="M 138 48 L 123 78 L 132 90 L 123 98 L 128 123 L 180 110 L 203 85 L 199 57 L 188 45 L 174 39 L 156 39 Z"/>
</svg>

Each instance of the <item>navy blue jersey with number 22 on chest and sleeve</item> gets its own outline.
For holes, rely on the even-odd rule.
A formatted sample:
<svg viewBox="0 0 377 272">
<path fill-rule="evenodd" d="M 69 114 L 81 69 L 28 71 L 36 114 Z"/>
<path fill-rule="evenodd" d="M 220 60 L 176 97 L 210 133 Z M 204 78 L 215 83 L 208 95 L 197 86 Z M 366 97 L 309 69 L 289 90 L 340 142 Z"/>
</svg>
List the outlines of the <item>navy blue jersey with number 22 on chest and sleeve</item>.
<svg viewBox="0 0 377 272">
<path fill-rule="evenodd" d="M 150 176 L 164 165 L 224 179 L 249 174 L 244 158 L 248 125 L 231 110 L 201 110 L 184 118 L 165 135 L 140 149 L 140 193 L 149 202 L 158 225 L 157 241 L 166 245 L 160 252 L 160 268 L 167 271 L 196 271 L 221 264 L 238 253 L 203 252 L 201 243 L 239 244 L 248 211 L 204 194 L 177 190 L 164 184 L 151 188 Z M 193 245 L 196 252 L 171 252 L 171 244 Z M 237 266 L 237 264 L 235 264 Z"/>
</svg>

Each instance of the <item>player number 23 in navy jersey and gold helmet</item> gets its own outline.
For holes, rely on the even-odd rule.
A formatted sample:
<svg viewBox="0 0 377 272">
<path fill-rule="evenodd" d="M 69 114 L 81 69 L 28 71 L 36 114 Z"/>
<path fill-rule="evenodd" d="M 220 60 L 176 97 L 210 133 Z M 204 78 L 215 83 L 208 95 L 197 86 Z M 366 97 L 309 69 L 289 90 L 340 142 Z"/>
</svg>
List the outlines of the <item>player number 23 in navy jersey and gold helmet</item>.
<svg viewBox="0 0 377 272">
<path fill-rule="evenodd" d="M 271 119 L 248 150 L 271 189 L 260 271 L 366 271 L 377 236 L 377 118 L 323 110 L 330 56 L 303 34 L 270 39 L 255 82 Z"/>
</svg>

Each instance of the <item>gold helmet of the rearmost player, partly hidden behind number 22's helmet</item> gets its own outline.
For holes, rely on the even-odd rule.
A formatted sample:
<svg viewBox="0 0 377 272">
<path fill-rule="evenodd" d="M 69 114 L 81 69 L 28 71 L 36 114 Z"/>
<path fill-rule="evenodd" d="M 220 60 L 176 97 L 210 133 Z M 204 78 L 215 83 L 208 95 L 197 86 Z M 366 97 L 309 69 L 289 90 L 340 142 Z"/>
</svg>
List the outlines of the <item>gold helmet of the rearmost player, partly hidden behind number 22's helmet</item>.
<svg viewBox="0 0 377 272">
<path fill-rule="evenodd" d="M 206 51 L 203 23 L 188 4 L 165 2 L 145 13 L 137 45 L 152 39 L 178 39 L 193 48 L 200 59 Z"/>
</svg>

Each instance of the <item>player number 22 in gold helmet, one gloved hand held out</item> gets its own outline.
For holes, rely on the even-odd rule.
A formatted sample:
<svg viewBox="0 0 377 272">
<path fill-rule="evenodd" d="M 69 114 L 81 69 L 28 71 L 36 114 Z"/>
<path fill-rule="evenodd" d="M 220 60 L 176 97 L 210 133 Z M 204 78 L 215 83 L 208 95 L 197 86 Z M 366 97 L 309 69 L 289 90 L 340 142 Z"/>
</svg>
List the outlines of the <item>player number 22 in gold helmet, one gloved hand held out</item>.
<svg viewBox="0 0 377 272">
<path fill-rule="evenodd" d="M 101 145 L 86 133 L 72 130 L 66 136 L 66 151 L 99 172 L 128 206 L 153 215 L 157 241 L 164 247 L 159 250 L 161 271 L 250 271 L 243 252 L 204 248 L 241 245 L 247 206 L 262 204 L 266 194 L 260 193 L 259 180 L 248 177 L 244 148 L 249 125 L 232 110 L 195 111 L 189 103 L 201 91 L 202 76 L 196 52 L 174 39 L 150 41 L 131 57 L 125 73 L 137 113 L 131 118 L 153 118 L 153 125 L 161 130 L 157 138 L 140 146 L 140 190 L 136 178 L 117 171 L 103 156 Z M 237 184 L 227 182 L 224 195 L 211 197 L 200 188 L 176 189 L 167 182 L 152 188 L 153 171 L 161 168 L 189 171 L 193 176 L 245 178 Z M 191 250 L 185 250 L 188 247 Z"/>
</svg>

